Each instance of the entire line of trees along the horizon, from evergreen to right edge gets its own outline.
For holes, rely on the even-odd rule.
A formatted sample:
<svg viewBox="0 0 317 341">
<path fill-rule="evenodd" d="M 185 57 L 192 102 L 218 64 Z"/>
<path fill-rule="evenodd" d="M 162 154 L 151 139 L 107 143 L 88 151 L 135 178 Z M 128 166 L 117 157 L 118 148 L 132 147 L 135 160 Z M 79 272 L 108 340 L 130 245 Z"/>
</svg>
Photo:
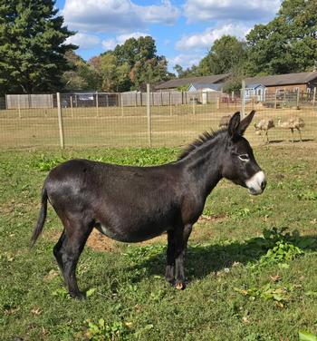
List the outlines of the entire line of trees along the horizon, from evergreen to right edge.
<svg viewBox="0 0 317 341">
<path fill-rule="evenodd" d="M 224 35 L 178 77 L 230 73 L 226 90 L 249 75 L 312 71 L 317 67 L 317 0 L 284 0 L 268 24 L 245 41 Z M 72 90 L 124 92 L 175 77 L 150 36 L 130 38 L 88 62 L 66 44 L 72 34 L 53 0 L 0 1 L 0 94 Z"/>
</svg>

